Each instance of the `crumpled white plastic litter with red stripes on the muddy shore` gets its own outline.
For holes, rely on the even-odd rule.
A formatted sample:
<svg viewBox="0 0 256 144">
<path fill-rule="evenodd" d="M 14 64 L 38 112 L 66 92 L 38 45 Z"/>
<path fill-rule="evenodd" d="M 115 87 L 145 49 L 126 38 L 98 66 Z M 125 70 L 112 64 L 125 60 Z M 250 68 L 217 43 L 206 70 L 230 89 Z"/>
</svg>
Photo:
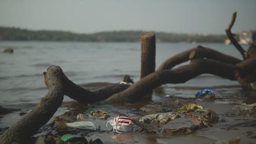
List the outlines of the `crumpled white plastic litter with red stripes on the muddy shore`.
<svg viewBox="0 0 256 144">
<path fill-rule="evenodd" d="M 109 125 L 112 125 L 112 128 L 115 133 L 124 133 L 133 131 L 133 118 L 130 117 L 114 117 L 107 122 L 106 127 L 111 130 L 112 128 Z"/>
</svg>

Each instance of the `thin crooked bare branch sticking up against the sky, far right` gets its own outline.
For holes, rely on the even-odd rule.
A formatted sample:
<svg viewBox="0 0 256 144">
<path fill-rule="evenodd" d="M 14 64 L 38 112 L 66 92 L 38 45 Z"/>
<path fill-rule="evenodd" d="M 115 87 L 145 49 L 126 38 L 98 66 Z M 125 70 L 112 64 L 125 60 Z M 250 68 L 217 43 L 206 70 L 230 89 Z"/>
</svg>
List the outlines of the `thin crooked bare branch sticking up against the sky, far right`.
<svg viewBox="0 0 256 144">
<path fill-rule="evenodd" d="M 231 32 L 231 28 L 234 25 L 235 21 L 236 21 L 236 12 L 232 14 L 229 26 L 225 29 L 226 35 L 228 36 L 228 38 L 231 41 L 231 43 L 241 53 L 243 59 L 246 59 L 247 58 L 247 52 L 243 49 L 243 47 L 240 44 L 238 44 L 237 40 L 234 38 L 235 34 L 232 34 L 232 32 Z"/>
</svg>

